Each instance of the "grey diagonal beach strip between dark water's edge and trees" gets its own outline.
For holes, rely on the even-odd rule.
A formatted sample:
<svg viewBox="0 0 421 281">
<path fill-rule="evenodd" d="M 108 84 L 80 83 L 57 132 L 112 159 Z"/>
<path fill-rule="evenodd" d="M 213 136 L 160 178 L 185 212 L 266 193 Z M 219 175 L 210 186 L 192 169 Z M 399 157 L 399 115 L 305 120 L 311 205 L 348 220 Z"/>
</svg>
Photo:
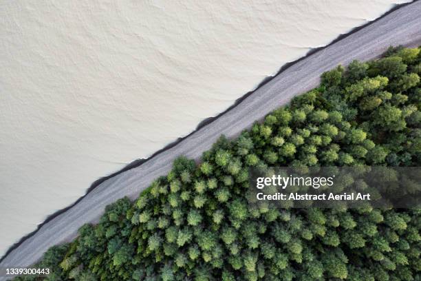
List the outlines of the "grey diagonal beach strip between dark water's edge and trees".
<svg viewBox="0 0 421 281">
<path fill-rule="evenodd" d="M 166 174 L 166 171 L 171 168 L 171 161 L 176 156 L 185 154 L 190 158 L 198 158 L 219 134 L 236 136 L 241 129 L 250 126 L 253 121 L 260 119 L 270 110 L 288 103 L 292 96 L 314 87 L 319 81 L 319 74 L 338 63 L 346 64 L 356 58 L 372 59 L 381 54 L 388 45 L 418 45 L 421 41 L 421 21 L 416 19 L 416 16 L 421 12 L 421 3 L 418 1 L 410 6 L 391 12 L 375 23 L 353 32 L 345 39 L 336 41 L 327 48 L 313 52 L 305 59 L 300 59 L 288 68 L 284 68 L 281 74 L 255 90 L 255 94 L 247 94 L 242 98 L 241 103 L 230 107 L 213 122 L 207 123 L 206 126 L 201 123 L 202 127 L 186 138 L 169 145 L 142 163 L 136 163 L 136 168 L 132 167 L 133 169 L 125 172 L 119 171 L 114 174 L 118 176 L 100 180 L 100 184 L 97 181 L 96 185 L 94 183 L 91 186 L 91 192 L 78 200 L 78 204 L 65 212 L 62 211 L 62 214 L 56 214 L 33 236 L 21 242 L 13 251 L 9 251 L 9 255 L 3 258 L 1 265 L 31 264 L 48 247 L 74 238 L 78 227 L 83 223 L 98 220 L 103 208 L 109 202 L 125 195 L 136 198 L 139 191 L 147 187 L 150 180 Z M 382 34 L 380 30 L 387 30 L 387 33 Z M 371 42 L 375 42 L 373 46 L 370 45 Z M 300 78 L 307 81 L 300 81 Z M 297 81 L 301 82 L 301 85 L 296 86 Z M 265 98 L 262 98 L 263 96 Z M 89 211 L 89 216 L 87 211 Z M 63 227 L 64 225 L 67 227 Z"/>
</svg>

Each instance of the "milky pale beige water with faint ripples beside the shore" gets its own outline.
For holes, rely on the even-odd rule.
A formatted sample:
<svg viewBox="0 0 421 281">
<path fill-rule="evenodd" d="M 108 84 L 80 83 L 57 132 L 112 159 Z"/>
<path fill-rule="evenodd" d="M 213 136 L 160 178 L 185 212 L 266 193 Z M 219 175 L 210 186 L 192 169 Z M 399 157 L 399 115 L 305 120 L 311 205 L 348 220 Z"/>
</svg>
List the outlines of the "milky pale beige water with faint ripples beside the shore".
<svg viewBox="0 0 421 281">
<path fill-rule="evenodd" d="M 0 255 L 94 180 L 402 2 L 1 0 Z"/>
</svg>

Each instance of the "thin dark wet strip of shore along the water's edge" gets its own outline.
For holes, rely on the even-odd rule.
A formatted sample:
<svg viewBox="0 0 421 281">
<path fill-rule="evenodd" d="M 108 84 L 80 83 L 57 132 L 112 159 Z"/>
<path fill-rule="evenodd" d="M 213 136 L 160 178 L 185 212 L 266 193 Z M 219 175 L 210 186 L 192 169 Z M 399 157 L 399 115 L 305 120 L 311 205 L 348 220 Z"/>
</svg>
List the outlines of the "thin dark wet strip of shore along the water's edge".
<svg viewBox="0 0 421 281">
<path fill-rule="evenodd" d="M 182 141 L 186 140 L 187 138 L 191 137 L 194 134 L 197 134 L 201 129 L 204 129 L 207 127 L 207 125 L 210 125 L 212 123 L 214 123 L 215 121 L 217 121 L 219 118 L 221 118 L 222 116 L 228 114 L 229 112 L 232 112 L 235 108 L 238 107 L 238 105 L 240 105 L 243 101 L 245 101 L 252 93 L 257 92 L 258 90 L 261 90 L 262 87 L 264 87 L 265 85 L 268 85 L 268 83 L 270 83 L 271 81 L 274 81 L 274 79 L 276 79 L 279 74 L 282 74 L 283 72 L 285 72 L 286 70 L 288 70 L 290 67 L 297 65 L 298 63 L 300 63 L 301 61 L 308 59 L 309 57 L 311 57 L 314 54 L 317 54 L 318 52 L 322 51 L 322 50 L 326 50 L 327 48 L 331 47 L 332 45 L 334 45 L 335 43 L 338 43 L 339 41 L 343 41 L 343 39 L 351 36 L 352 34 L 355 34 L 356 32 L 364 29 L 364 28 L 368 28 L 370 25 L 373 25 L 374 23 L 384 19 L 385 17 L 387 17 L 389 14 L 400 10 L 400 8 L 403 8 L 404 6 L 407 5 L 415 5 L 415 10 L 416 9 L 420 9 L 420 5 L 419 5 L 419 1 L 418 3 L 405 3 L 405 4 L 401 4 L 399 6 L 394 7 L 393 9 L 389 10 L 389 12 L 383 14 L 380 18 L 376 19 L 375 21 L 370 21 L 365 25 L 362 25 L 358 28 L 354 28 L 351 32 L 347 33 L 347 34 L 342 34 L 340 35 L 337 39 L 335 39 L 334 41 L 332 41 L 332 43 L 330 43 L 329 45 L 322 47 L 322 48 L 316 48 L 316 49 L 312 49 L 310 50 L 310 52 L 308 52 L 305 56 L 303 56 L 301 59 L 298 59 L 296 61 L 293 61 L 291 63 L 287 63 L 285 65 L 283 65 L 283 67 L 281 67 L 281 69 L 279 70 L 279 72 L 277 72 L 277 74 L 275 74 L 274 76 L 270 76 L 266 79 L 264 79 L 257 87 L 255 90 L 248 92 L 247 94 L 245 94 L 244 96 L 242 96 L 241 98 L 238 98 L 237 101 L 235 101 L 235 103 L 233 105 L 231 105 L 230 107 L 228 107 L 227 110 L 225 110 L 224 112 L 222 112 L 221 114 L 218 114 L 215 117 L 211 117 L 211 118 L 206 118 L 204 121 L 202 121 L 201 123 L 199 123 L 199 125 L 197 126 L 197 128 L 195 129 L 195 131 L 191 132 L 190 134 L 188 134 L 187 136 L 184 136 L 183 138 L 178 138 L 176 141 L 174 141 L 173 143 L 170 143 L 169 145 L 166 145 L 166 147 L 164 147 L 163 149 L 160 149 L 158 152 L 155 152 L 153 155 L 151 155 L 149 158 L 147 159 L 139 159 L 139 160 L 135 160 L 132 163 L 130 163 L 129 165 L 127 165 L 126 167 L 124 167 L 123 169 L 121 169 L 120 171 L 117 171 L 114 174 L 111 174 L 109 176 L 103 177 L 103 178 L 99 178 L 98 180 L 96 180 L 94 183 L 92 183 L 91 187 L 89 187 L 89 189 L 87 189 L 87 193 L 78 198 L 78 200 L 76 200 L 76 202 L 74 202 L 72 205 L 70 205 L 69 207 L 66 207 L 64 209 L 58 210 L 56 211 L 56 213 L 50 215 L 47 217 L 47 219 L 42 222 L 40 225 L 38 225 L 37 229 L 35 231 L 33 231 L 32 233 L 28 234 L 27 236 L 24 236 L 23 238 L 21 238 L 21 240 L 19 242 L 17 242 L 16 244 L 12 245 L 12 247 L 10 247 L 10 249 L 8 249 L 8 251 L 6 252 L 6 254 L 1 258 L 0 262 L 3 262 L 3 260 L 5 260 L 6 258 L 8 258 L 8 255 L 10 253 L 12 253 L 15 249 L 19 248 L 19 246 L 21 246 L 21 244 L 23 244 L 25 241 L 27 241 L 28 239 L 32 238 L 33 236 L 36 235 L 36 233 L 38 233 L 38 231 L 44 226 L 46 225 L 48 222 L 54 220 L 54 218 L 57 218 L 58 216 L 60 216 L 61 214 L 65 214 L 66 211 L 69 211 L 69 209 L 72 209 L 72 207 L 75 207 L 76 205 L 78 205 L 78 203 L 80 201 L 82 201 L 84 198 L 86 198 L 89 194 L 93 193 L 93 191 L 98 191 L 96 188 L 99 187 L 102 183 L 105 183 L 107 180 L 118 180 L 116 179 L 116 176 L 125 173 L 126 171 L 131 171 L 137 167 L 140 167 L 141 165 L 143 165 L 144 163 L 149 163 L 150 161 L 152 161 L 156 156 L 158 155 L 162 155 L 164 154 L 164 152 L 169 151 L 169 149 L 176 147 L 177 145 L 179 145 L 180 143 L 182 143 Z M 409 9 L 407 9 L 409 10 Z M 407 30 L 405 30 L 407 31 Z M 363 34 L 364 35 L 364 34 Z M 415 38 L 415 39 L 414 39 Z M 416 39 L 416 37 L 412 38 L 413 41 L 412 43 L 415 43 L 416 40 L 420 40 L 420 38 Z M 417 42 L 418 43 L 418 42 Z M 371 54 L 373 55 L 373 54 Z M 376 54 L 379 55 L 379 54 Z M 276 83 L 276 81 L 274 82 Z M 280 105 L 276 105 L 276 107 L 278 107 Z M 266 112 L 267 113 L 267 112 Z M 266 115 L 266 114 L 263 114 Z M 244 129 L 241 128 L 241 130 Z M 240 130 L 240 131 L 241 131 Z M 171 165 L 171 163 L 170 163 Z M 77 230 L 77 229 L 76 229 Z M 71 235 L 69 235 L 71 236 Z M 63 241 L 61 241 L 63 242 Z"/>
</svg>

